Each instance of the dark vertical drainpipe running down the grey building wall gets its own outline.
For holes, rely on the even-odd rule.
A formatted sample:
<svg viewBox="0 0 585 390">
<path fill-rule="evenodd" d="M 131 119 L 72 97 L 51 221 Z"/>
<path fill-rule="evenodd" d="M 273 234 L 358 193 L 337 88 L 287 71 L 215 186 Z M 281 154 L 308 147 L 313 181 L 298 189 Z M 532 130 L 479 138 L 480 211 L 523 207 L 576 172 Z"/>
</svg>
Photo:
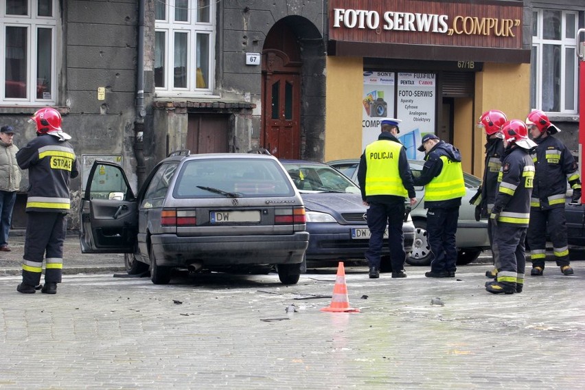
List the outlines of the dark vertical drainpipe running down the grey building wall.
<svg viewBox="0 0 585 390">
<path fill-rule="evenodd" d="M 136 158 L 136 176 L 140 188 L 144 183 L 146 163 L 144 161 L 144 3 L 146 0 L 138 0 L 138 47 L 137 47 L 137 66 L 136 66 L 136 117 L 134 122 L 134 154 Z"/>
</svg>

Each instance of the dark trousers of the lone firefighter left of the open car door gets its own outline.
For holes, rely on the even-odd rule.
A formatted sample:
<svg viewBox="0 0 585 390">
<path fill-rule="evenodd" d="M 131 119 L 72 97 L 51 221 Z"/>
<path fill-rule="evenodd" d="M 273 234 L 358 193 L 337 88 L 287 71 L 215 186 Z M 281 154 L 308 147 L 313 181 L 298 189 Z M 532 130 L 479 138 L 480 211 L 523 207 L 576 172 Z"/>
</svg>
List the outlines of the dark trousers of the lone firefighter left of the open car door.
<svg viewBox="0 0 585 390">
<path fill-rule="evenodd" d="M 63 242 L 67 232 L 67 214 L 27 213 L 23 256 L 23 283 L 38 286 L 46 254 L 45 283 L 60 283 L 63 268 Z"/>
</svg>

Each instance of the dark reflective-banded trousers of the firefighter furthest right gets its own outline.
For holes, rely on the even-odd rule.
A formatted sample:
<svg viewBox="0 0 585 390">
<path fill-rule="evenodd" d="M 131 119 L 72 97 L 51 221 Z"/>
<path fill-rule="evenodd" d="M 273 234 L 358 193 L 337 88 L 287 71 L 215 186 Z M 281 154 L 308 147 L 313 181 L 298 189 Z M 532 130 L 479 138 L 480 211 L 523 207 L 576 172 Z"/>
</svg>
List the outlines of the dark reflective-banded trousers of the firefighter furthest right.
<svg viewBox="0 0 585 390">
<path fill-rule="evenodd" d="M 569 246 L 566 239 L 566 218 L 564 207 L 548 210 L 530 210 L 528 226 L 528 246 L 532 266 L 544 268 L 546 259 L 547 237 L 549 233 L 553 243 L 553 253 L 558 266 L 569 265 Z"/>
</svg>

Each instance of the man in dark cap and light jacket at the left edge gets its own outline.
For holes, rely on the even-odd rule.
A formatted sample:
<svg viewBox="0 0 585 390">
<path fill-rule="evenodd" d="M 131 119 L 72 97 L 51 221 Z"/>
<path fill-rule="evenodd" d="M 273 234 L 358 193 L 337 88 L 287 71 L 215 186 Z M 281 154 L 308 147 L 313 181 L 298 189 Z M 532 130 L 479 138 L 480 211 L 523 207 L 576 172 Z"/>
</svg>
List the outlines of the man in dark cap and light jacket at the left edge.
<svg viewBox="0 0 585 390">
<path fill-rule="evenodd" d="M 21 186 L 21 170 L 16 163 L 19 148 L 12 143 L 14 128 L 0 128 L 0 251 L 10 252 L 8 233 L 12 221 L 12 209 L 16 201 L 16 191 Z"/>
</svg>

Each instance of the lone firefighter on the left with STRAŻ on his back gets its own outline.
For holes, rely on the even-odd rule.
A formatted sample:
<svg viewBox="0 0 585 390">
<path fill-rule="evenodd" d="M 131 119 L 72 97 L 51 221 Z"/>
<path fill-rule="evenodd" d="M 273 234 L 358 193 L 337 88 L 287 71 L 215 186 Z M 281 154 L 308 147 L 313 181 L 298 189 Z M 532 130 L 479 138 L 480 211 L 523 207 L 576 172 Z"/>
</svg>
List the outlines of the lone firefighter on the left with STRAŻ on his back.
<svg viewBox="0 0 585 390">
<path fill-rule="evenodd" d="M 78 176 L 78 161 L 67 142 L 71 136 L 61 130 L 61 115 L 55 108 L 41 108 L 29 122 L 36 125 L 37 137 L 16 153 L 16 161 L 23 170 L 28 170 L 30 182 L 23 281 L 16 290 L 24 294 L 35 292 L 46 254 L 45 286 L 41 292 L 56 294 L 67 231 L 69 179 Z"/>
</svg>

